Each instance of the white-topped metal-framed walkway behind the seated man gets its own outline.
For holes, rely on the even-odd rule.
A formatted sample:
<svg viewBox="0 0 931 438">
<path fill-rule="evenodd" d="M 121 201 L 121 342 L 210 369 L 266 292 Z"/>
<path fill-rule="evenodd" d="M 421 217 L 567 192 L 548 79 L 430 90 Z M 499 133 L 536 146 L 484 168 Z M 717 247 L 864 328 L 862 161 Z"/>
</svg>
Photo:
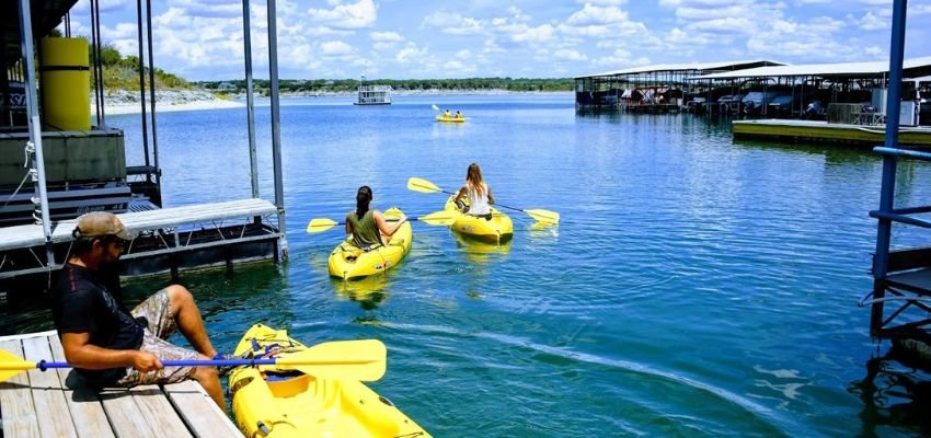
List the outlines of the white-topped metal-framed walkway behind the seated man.
<svg viewBox="0 0 931 438">
<path fill-rule="evenodd" d="M 123 275 L 227 266 L 234 262 L 277 260 L 281 233 L 274 223 L 277 208 L 258 198 L 117 215 L 141 232 L 126 247 Z M 51 251 L 43 228 L 0 228 L 0 280 L 56 270 L 67 260 L 76 220 L 54 222 Z"/>
</svg>

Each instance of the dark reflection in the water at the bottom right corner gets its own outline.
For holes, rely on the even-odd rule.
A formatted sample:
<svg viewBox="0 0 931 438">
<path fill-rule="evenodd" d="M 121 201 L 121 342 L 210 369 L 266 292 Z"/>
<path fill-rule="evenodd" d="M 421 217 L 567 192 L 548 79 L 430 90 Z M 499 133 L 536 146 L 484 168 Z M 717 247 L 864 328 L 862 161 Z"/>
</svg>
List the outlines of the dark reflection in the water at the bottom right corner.
<svg viewBox="0 0 931 438">
<path fill-rule="evenodd" d="M 928 362 L 916 362 L 896 348 L 866 361 L 866 377 L 850 388 L 863 401 L 864 435 L 875 436 L 877 426 L 892 426 L 931 436 L 931 380 L 927 368 L 920 371 L 922 366 Z"/>
</svg>

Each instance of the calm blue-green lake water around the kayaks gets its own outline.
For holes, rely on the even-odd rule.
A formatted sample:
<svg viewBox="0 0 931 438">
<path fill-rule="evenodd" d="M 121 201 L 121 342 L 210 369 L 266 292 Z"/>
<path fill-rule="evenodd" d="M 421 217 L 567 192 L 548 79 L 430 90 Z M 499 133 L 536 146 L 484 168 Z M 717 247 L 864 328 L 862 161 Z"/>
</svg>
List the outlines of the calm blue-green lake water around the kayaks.
<svg viewBox="0 0 931 438">
<path fill-rule="evenodd" d="M 430 104 L 471 119 L 434 123 Z M 267 103 L 258 118 L 273 199 Z M 138 143 L 138 116 L 108 122 Z M 166 205 L 250 196 L 243 110 L 158 124 Z M 290 260 L 182 278 L 222 349 L 253 322 L 308 343 L 379 338 L 389 370 L 372 387 L 438 437 L 929 433 L 928 405 L 895 376 L 855 384 L 876 351 L 857 307 L 872 285 L 872 153 L 734 143 L 727 123 L 686 114 L 577 115 L 571 94 L 286 99 L 281 129 Z M 499 203 L 559 211 L 559 228 L 513 212 L 514 241 L 495 247 L 414 223 L 386 278 L 327 277 L 342 233 L 306 234 L 309 219 L 342 219 L 361 184 L 377 208 L 435 211 L 445 197 L 406 180 L 455 189 L 472 161 Z M 931 196 L 928 166 L 899 175 L 900 205 Z M 927 243 L 899 229 L 895 242 Z M 48 327 L 41 311 L 16 318 Z"/>
</svg>

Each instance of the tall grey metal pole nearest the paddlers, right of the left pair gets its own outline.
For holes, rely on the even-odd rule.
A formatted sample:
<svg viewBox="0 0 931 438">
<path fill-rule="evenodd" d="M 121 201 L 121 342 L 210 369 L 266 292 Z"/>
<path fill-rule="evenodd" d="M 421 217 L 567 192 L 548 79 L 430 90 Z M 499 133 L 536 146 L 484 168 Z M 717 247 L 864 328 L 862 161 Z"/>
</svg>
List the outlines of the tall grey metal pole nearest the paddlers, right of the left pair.
<svg viewBox="0 0 931 438">
<path fill-rule="evenodd" d="M 281 258 L 288 260 L 287 227 L 285 226 L 285 191 L 281 181 L 281 120 L 278 105 L 278 31 L 275 14 L 275 0 L 268 0 L 268 82 L 272 94 L 272 161 L 275 168 L 275 206 L 278 207 L 278 231 L 281 233 Z"/>
</svg>

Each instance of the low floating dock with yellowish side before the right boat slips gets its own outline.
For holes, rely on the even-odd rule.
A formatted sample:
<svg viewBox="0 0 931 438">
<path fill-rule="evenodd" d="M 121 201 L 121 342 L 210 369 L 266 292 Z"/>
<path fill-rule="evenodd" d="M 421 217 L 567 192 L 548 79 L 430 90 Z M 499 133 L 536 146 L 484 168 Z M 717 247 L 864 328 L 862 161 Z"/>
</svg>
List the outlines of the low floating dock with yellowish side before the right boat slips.
<svg viewBox="0 0 931 438">
<path fill-rule="evenodd" d="M 848 125 L 818 120 L 734 120 L 734 138 L 769 138 L 789 141 L 827 141 L 874 147 L 883 145 L 883 125 Z M 899 145 L 931 147 L 931 127 L 899 128 Z"/>
</svg>

